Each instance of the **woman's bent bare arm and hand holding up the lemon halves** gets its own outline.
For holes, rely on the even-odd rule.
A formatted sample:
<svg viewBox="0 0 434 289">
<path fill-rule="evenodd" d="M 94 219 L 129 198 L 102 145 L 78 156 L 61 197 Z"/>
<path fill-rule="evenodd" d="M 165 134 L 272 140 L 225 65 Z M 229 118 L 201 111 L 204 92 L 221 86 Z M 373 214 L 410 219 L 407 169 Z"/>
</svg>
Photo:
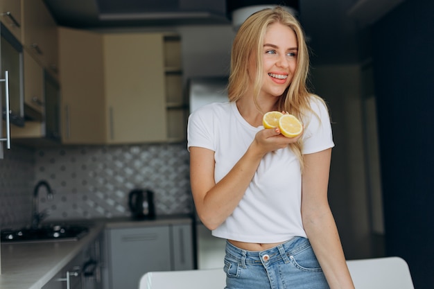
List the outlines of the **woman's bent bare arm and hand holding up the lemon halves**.
<svg viewBox="0 0 434 289">
<path fill-rule="evenodd" d="M 191 192 L 203 224 L 213 230 L 224 222 L 243 198 L 262 157 L 267 152 L 286 148 L 288 143 L 297 139 L 288 139 L 279 134 L 279 130 L 261 130 L 245 154 L 218 184 L 214 181 L 214 151 L 190 147 Z"/>
</svg>

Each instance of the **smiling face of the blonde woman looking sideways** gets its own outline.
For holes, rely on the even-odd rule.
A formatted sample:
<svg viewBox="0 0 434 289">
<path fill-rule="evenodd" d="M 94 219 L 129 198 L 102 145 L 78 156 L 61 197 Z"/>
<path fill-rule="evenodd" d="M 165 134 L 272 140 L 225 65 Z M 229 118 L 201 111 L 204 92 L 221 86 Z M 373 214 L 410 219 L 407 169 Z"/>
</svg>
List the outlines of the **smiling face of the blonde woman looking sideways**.
<svg viewBox="0 0 434 289">
<path fill-rule="evenodd" d="M 293 80 L 297 52 L 297 37 L 291 28 L 279 23 L 268 26 L 260 53 L 262 83 L 259 97 L 276 97 L 284 93 Z M 254 57 L 249 70 L 251 73 L 257 70 Z"/>
</svg>

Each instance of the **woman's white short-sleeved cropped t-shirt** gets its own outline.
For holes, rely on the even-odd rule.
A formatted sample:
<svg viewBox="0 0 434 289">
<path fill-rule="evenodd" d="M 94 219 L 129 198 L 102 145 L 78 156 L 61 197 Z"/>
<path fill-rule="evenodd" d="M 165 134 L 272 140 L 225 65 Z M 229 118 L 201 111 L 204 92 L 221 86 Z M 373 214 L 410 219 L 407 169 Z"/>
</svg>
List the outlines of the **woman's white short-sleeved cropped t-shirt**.
<svg viewBox="0 0 434 289">
<path fill-rule="evenodd" d="M 303 154 L 334 146 L 327 108 L 313 97 L 311 108 L 320 120 L 315 115 L 302 120 L 305 125 Z M 259 130 L 263 130 L 263 126 L 254 128 L 245 121 L 236 103 L 212 103 L 189 116 L 187 147 L 214 150 L 217 183 L 244 155 Z M 301 192 L 300 162 L 290 148 L 268 152 L 238 207 L 212 234 L 249 243 L 277 243 L 293 236 L 306 237 Z"/>
</svg>

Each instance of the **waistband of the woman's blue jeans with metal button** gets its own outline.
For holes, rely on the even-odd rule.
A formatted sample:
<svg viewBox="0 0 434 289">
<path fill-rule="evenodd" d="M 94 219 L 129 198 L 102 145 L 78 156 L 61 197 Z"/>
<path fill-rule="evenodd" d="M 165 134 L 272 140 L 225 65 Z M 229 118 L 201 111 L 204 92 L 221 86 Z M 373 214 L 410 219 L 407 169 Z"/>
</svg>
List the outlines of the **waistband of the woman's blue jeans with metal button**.
<svg viewBox="0 0 434 289">
<path fill-rule="evenodd" d="M 264 258 L 271 263 L 275 261 L 284 261 L 285 263 L 288 263 L 288 257 L 300 252 L 302 249 L 305 249 L 310 245 L 309 240 L 304 237 L 293 237 L 285 243 L 270 249 L 263 251 L 248 251 L 240 249 L 229 243 L 229 241 L 226 241 L 226 257 L 241 263 L 243 266 L 249 263 L 261 263 L 261 260 L 264 260 Z"/>
</svg>

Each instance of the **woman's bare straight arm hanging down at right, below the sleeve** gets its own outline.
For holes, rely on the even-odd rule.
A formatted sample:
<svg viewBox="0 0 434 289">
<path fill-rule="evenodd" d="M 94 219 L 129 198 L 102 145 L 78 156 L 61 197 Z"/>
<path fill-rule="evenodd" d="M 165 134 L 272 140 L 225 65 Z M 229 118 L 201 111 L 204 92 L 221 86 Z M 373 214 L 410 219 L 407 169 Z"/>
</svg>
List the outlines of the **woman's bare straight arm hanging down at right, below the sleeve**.
<svg viewBox="0 0 434 289">
<path fill-rule="evenodd" d="M 302 220 L 331 289 L 354 288 L 327 200 L 331 148 L 304 155 Z"/>
</svg>

